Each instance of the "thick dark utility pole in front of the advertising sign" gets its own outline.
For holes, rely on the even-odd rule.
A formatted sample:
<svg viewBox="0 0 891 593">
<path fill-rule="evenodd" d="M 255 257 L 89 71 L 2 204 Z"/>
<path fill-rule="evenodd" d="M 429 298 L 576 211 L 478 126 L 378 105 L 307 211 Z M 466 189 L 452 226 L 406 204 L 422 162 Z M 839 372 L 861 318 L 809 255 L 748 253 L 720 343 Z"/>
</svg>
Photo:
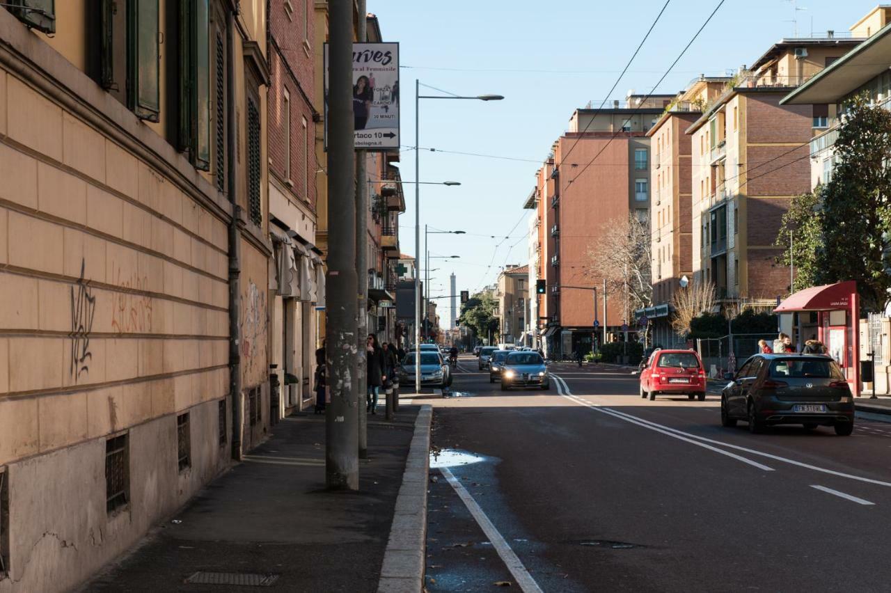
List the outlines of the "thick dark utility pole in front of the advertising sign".
<svg viewBox="0 0 891 593">
<path fill-rule="evenodd" d="M 325 483 L 359 489 L 356 416 L 356 196 L 353 138 L 353 3 L 329 3 L 328 44 L 328 313 L 325 358 L 331 403 L 325 413 Z"/>
</svg>

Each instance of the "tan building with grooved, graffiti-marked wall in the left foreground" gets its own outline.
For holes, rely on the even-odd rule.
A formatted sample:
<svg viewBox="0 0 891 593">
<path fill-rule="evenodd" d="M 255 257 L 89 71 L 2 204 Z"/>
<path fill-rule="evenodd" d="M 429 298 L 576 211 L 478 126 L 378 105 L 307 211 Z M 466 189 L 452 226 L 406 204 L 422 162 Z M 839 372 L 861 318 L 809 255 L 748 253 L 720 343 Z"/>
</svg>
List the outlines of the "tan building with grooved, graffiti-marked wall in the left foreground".
<svg viewBox="0 0 891 593">
<path fill-rule="evenodd" d="M 3 593 L 75 587 L 271 416 L 266 3 L 41 5 L 0 9 Z"/>
</svg>

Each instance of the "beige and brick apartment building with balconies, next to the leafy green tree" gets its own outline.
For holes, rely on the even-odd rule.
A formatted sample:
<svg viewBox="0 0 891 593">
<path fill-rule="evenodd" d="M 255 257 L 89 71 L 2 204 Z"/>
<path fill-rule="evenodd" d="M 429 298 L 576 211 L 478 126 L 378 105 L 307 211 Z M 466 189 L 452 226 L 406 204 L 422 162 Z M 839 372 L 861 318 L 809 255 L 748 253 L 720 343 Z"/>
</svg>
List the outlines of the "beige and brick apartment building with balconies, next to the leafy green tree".
<svg viewBox="0 0 891 593">
<path fill-rule="evenodd" d="M 782 39 L 687 128 L 692 135 L 693 272 L 724 302 L 770 306 L 789 291 L 773 247 L 791 199 L 810 189 L 808 144 L 828 106 L 781 99 L 862 39 Z"/>
</svg>

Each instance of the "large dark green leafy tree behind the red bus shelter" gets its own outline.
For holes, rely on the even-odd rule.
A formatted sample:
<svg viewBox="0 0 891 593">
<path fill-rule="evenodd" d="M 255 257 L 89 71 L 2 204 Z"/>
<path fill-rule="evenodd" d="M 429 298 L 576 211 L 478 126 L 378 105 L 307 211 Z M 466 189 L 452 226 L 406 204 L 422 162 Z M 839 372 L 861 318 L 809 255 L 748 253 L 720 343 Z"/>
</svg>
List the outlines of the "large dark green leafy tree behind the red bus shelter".
<svg viewBox="0 0 891 593">
<path fill-rule="evenodd" d="M 891 112 L 865 96 L 845 108 L 832 178 L 793 200 L 776 245 L 789 265 L 792 232 L 795 289 L 856 280 L 863 309 L 879 311 L 891 288 Z"/>
</svg>

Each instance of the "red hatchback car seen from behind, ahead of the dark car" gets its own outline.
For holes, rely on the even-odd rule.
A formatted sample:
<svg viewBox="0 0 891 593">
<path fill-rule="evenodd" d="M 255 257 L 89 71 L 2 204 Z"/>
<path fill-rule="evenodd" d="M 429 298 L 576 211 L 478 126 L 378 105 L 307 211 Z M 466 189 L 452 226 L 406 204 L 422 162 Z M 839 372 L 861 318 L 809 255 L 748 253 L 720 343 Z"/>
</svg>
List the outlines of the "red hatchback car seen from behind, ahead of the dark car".
<svg viewBox="0 0 891 593">
<path fill-rule="evenodd" d="M 657 350 L 641 371 L 641 397 L 686 394 L 691 400 L 706 399 L 706 370 L 695 350 Z"/>
</svg>

